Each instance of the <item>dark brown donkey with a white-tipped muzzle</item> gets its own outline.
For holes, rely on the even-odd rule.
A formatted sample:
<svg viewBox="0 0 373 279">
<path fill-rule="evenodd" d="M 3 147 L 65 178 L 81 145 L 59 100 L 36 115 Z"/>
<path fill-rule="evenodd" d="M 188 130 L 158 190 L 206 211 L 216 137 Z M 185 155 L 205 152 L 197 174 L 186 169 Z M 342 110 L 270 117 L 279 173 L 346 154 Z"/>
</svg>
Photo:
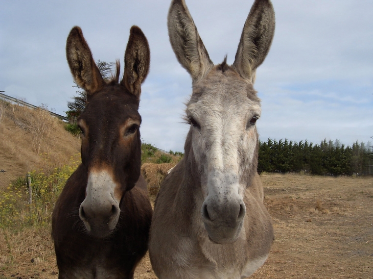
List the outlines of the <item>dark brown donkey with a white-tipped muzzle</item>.
<svg viewBox="0 0 373 279">
<path fill-rule="evenodd" d="M 75 82 L 87 92 L 78 118 L 82 164 L 67 180 L 52 214 L 59 278 L 133 278 L 148 249 L 152 208 L 140 175 L 138 114 L 150 63 L 141 29 L 130 30 L 124 77 L 105 82 L 79 27 L 66 43 Z"/>
</svg>

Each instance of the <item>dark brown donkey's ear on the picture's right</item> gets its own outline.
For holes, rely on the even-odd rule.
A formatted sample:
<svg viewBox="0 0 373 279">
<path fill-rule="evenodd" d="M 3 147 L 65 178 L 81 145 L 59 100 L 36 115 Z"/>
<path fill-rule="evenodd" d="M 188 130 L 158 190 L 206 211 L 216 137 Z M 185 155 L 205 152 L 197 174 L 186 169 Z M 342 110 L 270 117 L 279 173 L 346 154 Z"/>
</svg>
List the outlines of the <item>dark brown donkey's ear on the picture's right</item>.
<svg viewBox="0 0 373 279">
<path fill-rule="evenodd" d="M 132 26 L 124 55 L 124 75 L 121 84 L 136 97 L 141 94 L 141 84 L 148 75 L 149 65 L 148 40 L 141 29 Z"/>
</svg>

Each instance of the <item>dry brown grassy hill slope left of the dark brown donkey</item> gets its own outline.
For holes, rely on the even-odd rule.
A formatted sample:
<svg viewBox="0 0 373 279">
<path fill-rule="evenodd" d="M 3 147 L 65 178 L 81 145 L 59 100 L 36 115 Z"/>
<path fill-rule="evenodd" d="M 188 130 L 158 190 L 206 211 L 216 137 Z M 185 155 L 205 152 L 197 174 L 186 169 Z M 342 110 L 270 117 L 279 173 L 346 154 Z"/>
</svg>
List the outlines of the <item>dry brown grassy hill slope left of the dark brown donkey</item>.
<svg viewBox="0 0 373 279">
<path fill-rule="evenodd" d="M 0 100 L 0 190 L 32 170 L 49 172 L 80 151 L 80 140 L 47 111 Z"/>
</svg>

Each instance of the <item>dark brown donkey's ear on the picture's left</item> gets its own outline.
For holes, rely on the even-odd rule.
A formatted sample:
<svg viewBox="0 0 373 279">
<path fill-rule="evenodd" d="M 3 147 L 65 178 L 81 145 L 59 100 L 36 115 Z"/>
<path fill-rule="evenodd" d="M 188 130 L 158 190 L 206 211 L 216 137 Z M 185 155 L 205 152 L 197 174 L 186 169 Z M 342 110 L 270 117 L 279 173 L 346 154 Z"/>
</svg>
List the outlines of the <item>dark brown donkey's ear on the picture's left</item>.
<svg viewBox="0 0 373 279">
<path fill-rule="evenodd" d="M 75 82 L 87 92 L 88 96 L 105 84 L 82 30 L 77 26 L 67 37 L 66 58 Z"/>
</svg>

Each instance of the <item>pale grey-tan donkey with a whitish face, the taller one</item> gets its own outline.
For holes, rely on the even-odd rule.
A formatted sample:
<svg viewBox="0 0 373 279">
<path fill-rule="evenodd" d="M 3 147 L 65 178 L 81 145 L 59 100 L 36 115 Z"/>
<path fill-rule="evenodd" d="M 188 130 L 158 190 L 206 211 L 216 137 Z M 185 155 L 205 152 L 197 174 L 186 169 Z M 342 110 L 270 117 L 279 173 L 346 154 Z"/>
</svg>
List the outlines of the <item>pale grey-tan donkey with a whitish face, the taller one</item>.
<svg viewBox="0 0 373 279">
<path fill-rule="evenodd" d="M 267 259 L 273 229 L 257 173 L 261 107 L 253 83 L 274 25 L 271 2 L 255 0 L 234 64 L 214 65 L 184 0 L 171 3 L 170 41 L 193 93 L 184 158 L 155 202 L 149 255 L 160 279 L 240 279 Z"/>
</svg>

